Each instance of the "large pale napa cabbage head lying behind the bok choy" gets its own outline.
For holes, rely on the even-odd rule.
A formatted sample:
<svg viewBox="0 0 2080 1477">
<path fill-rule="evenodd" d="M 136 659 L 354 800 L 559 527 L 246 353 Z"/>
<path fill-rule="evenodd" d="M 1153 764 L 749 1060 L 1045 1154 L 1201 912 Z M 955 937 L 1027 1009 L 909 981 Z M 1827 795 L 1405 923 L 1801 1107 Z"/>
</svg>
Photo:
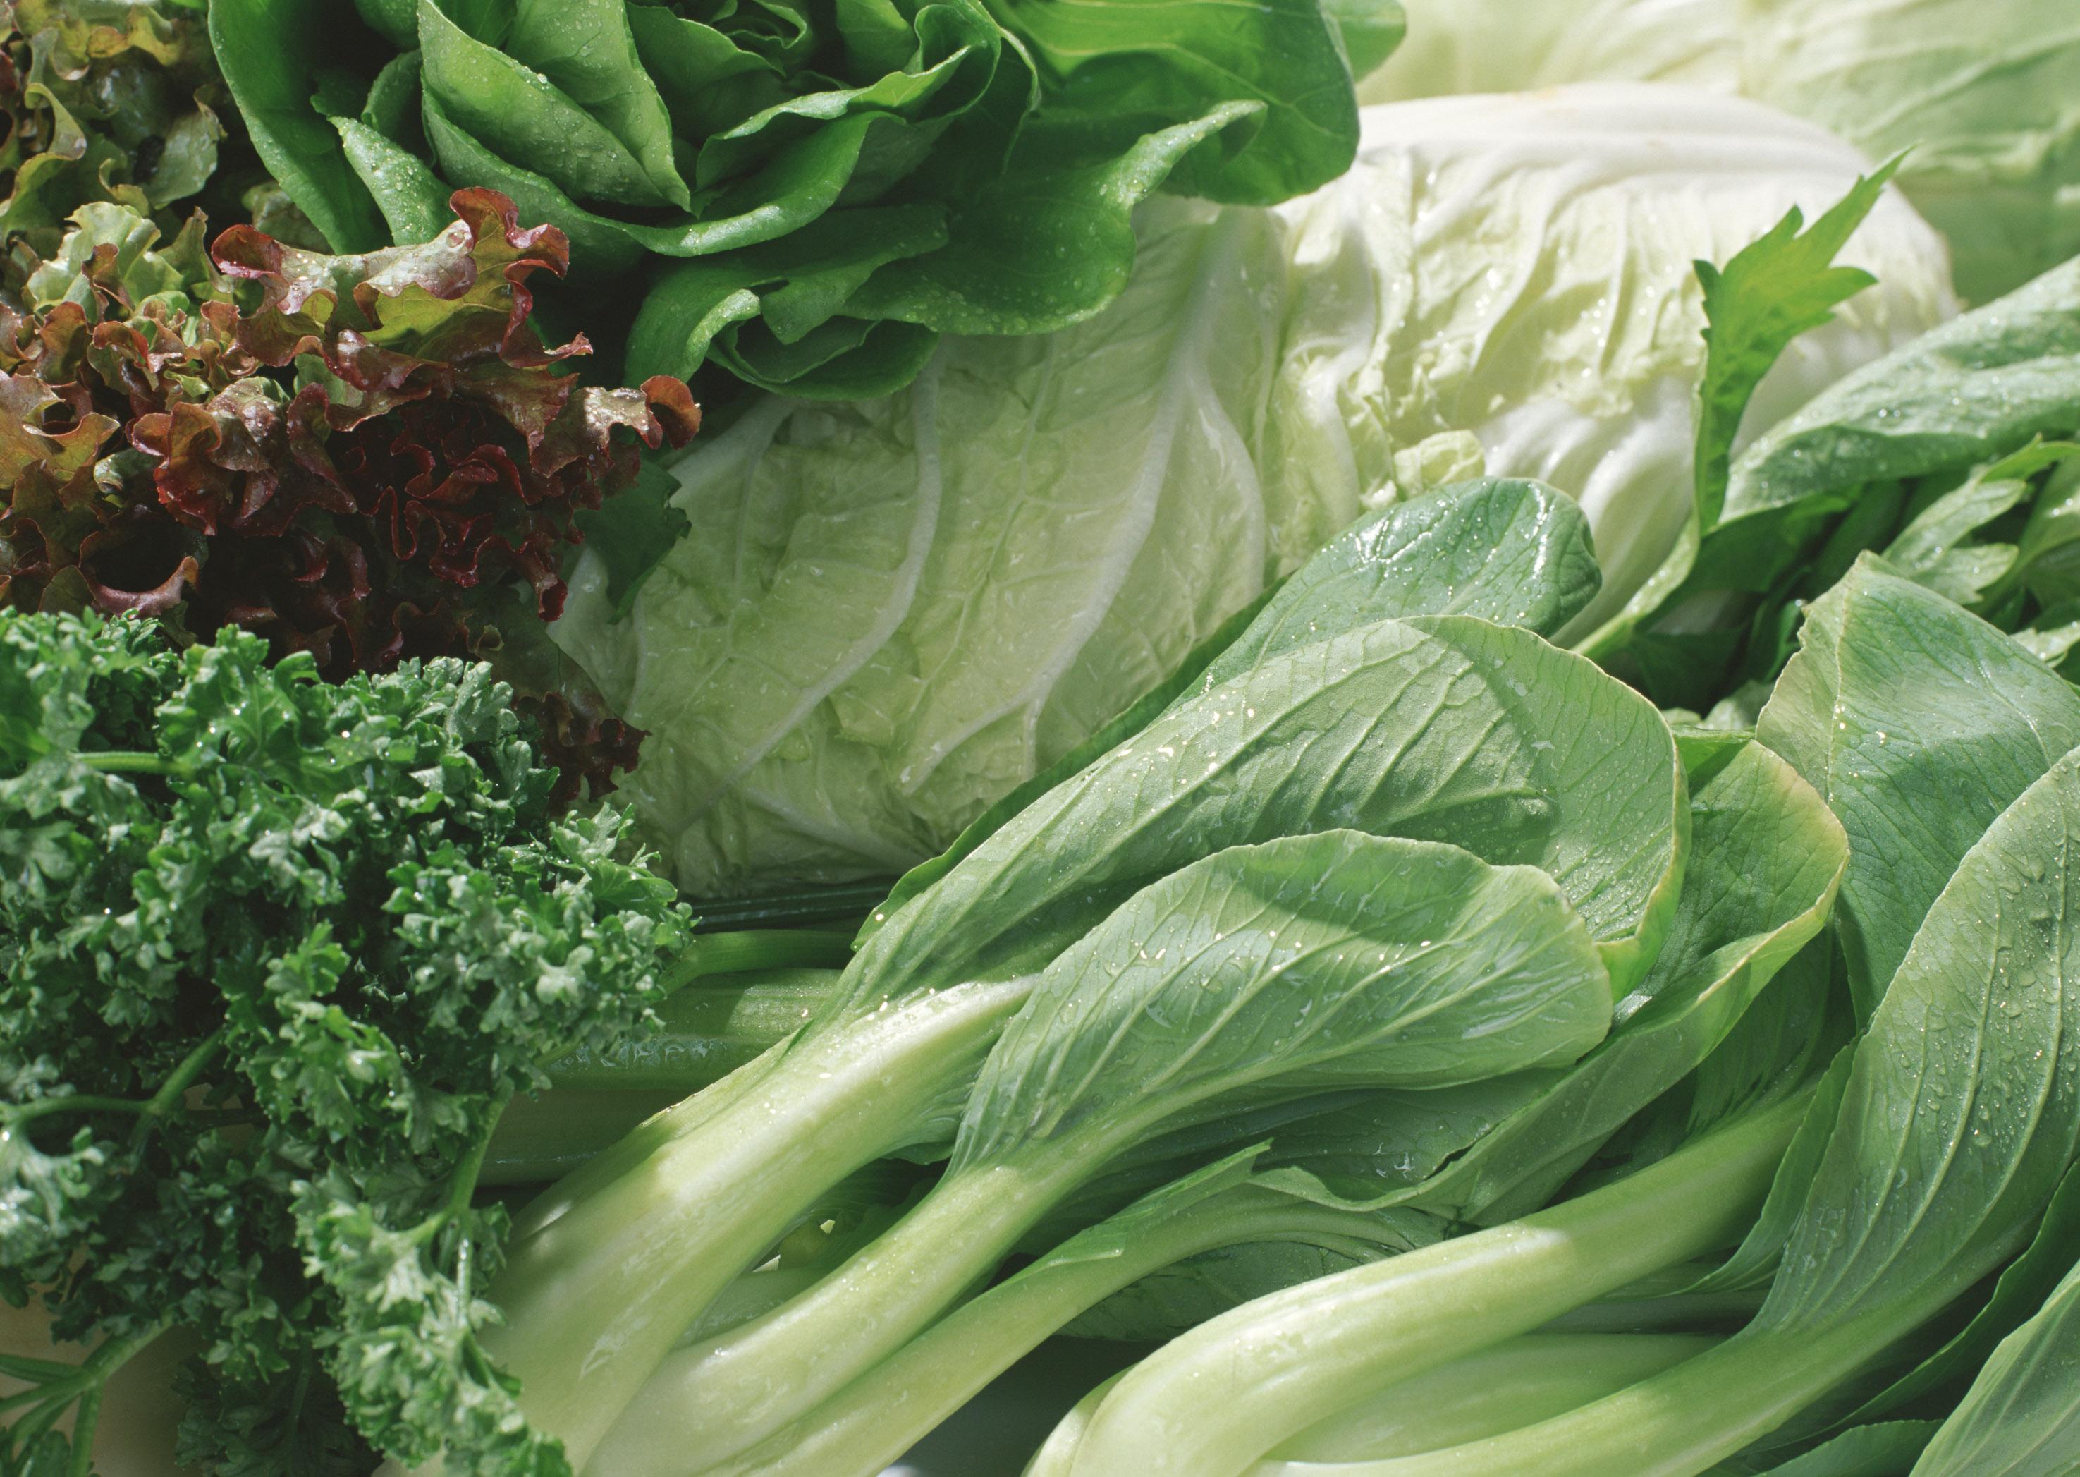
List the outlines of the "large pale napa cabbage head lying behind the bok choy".
<svg viewBox="0 0 2080 1477">
<path fill-rule="evenodd" d="M 632 599 L 587 555 L 553 637 L 649 730 L 626 797 L 718 897 L 936 853 L 1367 508 L 1450 481 L 1583 503 L 1587 628 L 1689 506 L 1693 260 L 1862 169 L 1674 87 L 1369 108 L 1312 196 L 1144 206 L 1088 322 L 951 337 L 899 395 L 703 437 L 672 468 L 688 533 Z M 1751 433 L 1953 310 L 1897 196 L 1843 256 L 1880 285 L 1785 356 Z"/>
</svg>

